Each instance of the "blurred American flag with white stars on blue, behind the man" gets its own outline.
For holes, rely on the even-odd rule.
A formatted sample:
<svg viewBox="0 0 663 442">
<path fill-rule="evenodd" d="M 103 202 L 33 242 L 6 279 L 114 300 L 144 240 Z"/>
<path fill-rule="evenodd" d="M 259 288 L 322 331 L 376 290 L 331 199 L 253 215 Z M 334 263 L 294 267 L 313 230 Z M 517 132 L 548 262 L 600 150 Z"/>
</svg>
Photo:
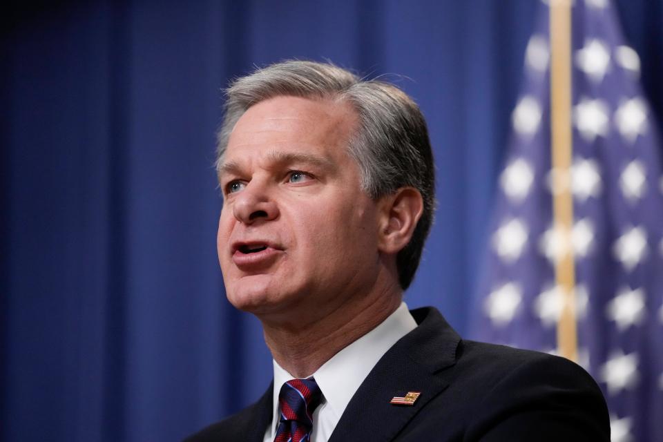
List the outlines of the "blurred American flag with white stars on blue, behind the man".
<svg viewBox="0 0 663 442">
<path fill-rule="evenodd" d="M 579 363 L 606 396 L 612 440 L 663 441 L 662 150 L 640 59 L 609 0 L 573 2 L 573 164 L 552 171 L 548 6 L 540 10 L 472 336 L 555 353 L 566 297 L 554 264 L 573 251 Z M 569 233 L 553 228 L 560 184 L 573 195 Z"/>
</svg>

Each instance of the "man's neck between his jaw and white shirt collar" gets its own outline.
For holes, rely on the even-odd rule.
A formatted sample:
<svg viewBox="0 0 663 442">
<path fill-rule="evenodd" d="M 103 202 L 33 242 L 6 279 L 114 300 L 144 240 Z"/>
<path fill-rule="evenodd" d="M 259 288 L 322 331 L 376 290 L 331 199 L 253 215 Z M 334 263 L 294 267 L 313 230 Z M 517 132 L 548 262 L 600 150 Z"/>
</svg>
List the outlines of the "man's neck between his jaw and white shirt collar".
<svg viewBox="0 0 663 442">
<path fill-rule="evenodd" d="M 263 320 L 265 342 L 278 365 L 305 378 L 394 313 L 402 296 L 397 286 L 376 290 L 302 327 L 281 327 Z"/>
</svg>

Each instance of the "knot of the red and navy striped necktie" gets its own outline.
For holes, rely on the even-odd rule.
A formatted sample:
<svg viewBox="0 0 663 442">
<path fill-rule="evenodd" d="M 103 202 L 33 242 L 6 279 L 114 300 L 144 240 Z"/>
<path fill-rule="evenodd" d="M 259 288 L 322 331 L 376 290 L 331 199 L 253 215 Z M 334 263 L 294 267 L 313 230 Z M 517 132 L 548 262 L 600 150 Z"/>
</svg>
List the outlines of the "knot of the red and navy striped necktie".
<svg viewBox="0 0 663 442">
<path fill-rule="evenodd" d="M 296 421 L 310 428 L 313 424 L 313 412 L 320 405 L 322 396 L 314 378 L 287 381 L 278 394 L 280 420 Z"/>
</svg>

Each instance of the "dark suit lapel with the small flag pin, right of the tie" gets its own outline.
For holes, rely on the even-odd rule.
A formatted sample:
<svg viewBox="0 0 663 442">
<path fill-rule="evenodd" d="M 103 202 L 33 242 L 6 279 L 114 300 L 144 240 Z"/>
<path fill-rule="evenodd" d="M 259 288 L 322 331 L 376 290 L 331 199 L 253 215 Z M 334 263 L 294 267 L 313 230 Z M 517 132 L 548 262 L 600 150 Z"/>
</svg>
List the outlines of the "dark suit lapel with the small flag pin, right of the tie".
<svg viewBox="0 0 663 442">
<path fill-rule="evenodd" d="M 352 396 L 329 442 L 391 441 L 448 386 L 440 370 L 454 365 L 460 337 L 435 309 L 412 311 L 419 327 L 392 347 Z M 392 405 L 394 396 L 421 392 L 414 405 Z"/>
</svg>

